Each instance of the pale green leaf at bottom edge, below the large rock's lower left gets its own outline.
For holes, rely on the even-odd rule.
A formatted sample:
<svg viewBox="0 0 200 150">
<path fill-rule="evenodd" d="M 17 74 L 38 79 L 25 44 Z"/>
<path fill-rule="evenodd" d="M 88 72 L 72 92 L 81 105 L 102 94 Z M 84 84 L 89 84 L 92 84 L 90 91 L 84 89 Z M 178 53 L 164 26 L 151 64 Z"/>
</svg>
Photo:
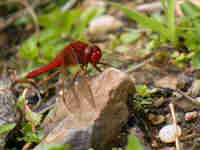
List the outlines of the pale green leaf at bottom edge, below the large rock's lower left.
<svg viewBox="0 0 200 150">
<path fill-rule="evenodd" d="M 71 146 L 67 145 L 58 145 L 58 144 L 40 144 L 33 150 L 66 150 L 69 149 Z"/>
</svg>

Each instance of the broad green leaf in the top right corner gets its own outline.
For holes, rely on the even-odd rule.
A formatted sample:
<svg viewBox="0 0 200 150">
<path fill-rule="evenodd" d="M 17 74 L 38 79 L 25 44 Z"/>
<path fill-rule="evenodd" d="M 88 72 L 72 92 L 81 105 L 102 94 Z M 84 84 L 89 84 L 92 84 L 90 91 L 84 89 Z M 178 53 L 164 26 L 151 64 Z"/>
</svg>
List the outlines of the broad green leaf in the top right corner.
<svg viewBox="0 0 200 150">
<path fill-rule="evenodd" d="M 181 11 L 183 12 L 184 16 L 190 18 L 196 18 L 200 16 L 200 8 L 194 5 L 190 1 L 186 1 L 180 5 Z"/>
</svg>

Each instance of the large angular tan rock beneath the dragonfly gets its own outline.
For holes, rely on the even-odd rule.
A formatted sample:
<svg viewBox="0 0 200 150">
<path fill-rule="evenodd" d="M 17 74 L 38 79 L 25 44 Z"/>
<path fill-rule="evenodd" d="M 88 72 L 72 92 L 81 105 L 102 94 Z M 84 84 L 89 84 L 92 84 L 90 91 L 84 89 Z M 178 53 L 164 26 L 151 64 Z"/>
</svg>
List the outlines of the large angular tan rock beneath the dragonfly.
<svg viewBox="0 0 200 150">
<path fill-rule="evenodd" d="M 109 145 L 128 120 L 127 100 L 135 94 L 135 84 L 127 74 L 113 68 L 89 84 L 96 108 L 84 94 L 78 95 L 78 101 L 73 92 L 66 93 L 65 101 L 70 102 L 67 106 L 59 97 L 55 111 L 44 121 L 47 136 L 41 144 L 67 144 L 76 150 L 111 149 Z M 81 87 L 75 88 L 75 91 L 81 90 Z"/>
</svg>

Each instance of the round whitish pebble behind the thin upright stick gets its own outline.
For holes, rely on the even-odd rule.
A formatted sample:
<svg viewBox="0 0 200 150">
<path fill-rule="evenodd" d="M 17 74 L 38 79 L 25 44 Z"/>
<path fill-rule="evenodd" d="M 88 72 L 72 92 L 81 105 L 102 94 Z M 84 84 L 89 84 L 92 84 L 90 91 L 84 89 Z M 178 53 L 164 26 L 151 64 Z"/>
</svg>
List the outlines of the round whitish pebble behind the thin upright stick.
<svg viewBox="0 0 200 150">
<path fill-rule="evenodd" d="M 180 136 L 181 128 L 177 126 L 177 134 Z M 173 143 L 176 140 L 175 128 L 172 124 L 164 126 L 159 132 L 159 138 L 163 143 Z"/>
</svg>

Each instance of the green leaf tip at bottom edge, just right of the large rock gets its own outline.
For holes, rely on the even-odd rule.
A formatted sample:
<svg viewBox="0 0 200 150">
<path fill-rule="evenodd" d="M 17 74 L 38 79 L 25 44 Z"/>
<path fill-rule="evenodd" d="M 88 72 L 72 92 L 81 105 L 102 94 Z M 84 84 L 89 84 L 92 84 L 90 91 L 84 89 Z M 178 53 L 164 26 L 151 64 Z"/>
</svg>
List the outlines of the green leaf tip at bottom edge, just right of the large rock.
<svg viewBox="0 0 200 150">
<path fill-rule="evenodd" d="M 128 145 L 125 150 L 144 150 L 139 142 L 139 140 L 135 136 L 129 136 Z"/>
</svg>

